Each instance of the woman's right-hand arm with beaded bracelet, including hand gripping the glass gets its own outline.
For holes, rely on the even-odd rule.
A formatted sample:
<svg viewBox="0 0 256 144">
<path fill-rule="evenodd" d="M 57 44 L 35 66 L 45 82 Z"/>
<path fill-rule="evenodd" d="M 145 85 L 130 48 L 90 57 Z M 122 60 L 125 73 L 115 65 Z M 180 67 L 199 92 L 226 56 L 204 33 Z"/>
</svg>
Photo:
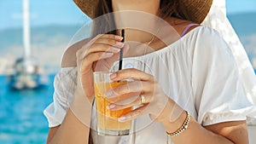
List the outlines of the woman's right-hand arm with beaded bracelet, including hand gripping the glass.
<svg viewBox="0 0 256 144">
<path fill-rule="evenodd" d="M 180 129 L 188 117 L 187 112 L 160 89 L 154 76 L 137 69 L 125 69 L 113 73 L 110 77 L 116 81 L 134 79 L 133 82 L 115 87 L 105 94 L 109 99 L 119 97 L 118 102 L 111 104 L 110 110 L 143 104 L 142 107 L 123 115 L 119 121 L 127 121 L 149 114 L 150 118 L 163 124 L 168 133 L 173 133 Z M 131 92 L 143 95 L 144 100 L 138 97 L 137 101 L 127 106 L 119 105 L 120 101 L 125 100 L 124 94 Z M 175 144 L 248 144 L 247 126 L 246 122 L 241 120 L 213 124 L 204 128 L 194 118 L 190 118 L 189 128 L 183 130 L 180 135 L 172 136 L 172 141 Z"/>
</svg>

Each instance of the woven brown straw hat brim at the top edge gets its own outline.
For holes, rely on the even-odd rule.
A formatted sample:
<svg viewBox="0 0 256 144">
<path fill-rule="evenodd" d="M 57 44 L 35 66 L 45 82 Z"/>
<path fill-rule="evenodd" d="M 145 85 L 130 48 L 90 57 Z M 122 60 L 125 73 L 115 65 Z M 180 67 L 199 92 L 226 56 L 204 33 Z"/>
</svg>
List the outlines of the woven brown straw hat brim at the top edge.
<svg viewBox="0 0 256 144">
<path fill-rule="evenodd" d="M 99 0 L 73 0 L 79 6 L 84 14 L 91 19 L 95 18 L 95 10 Z M 211 9 L 212 0 L 182 0 L 189 14 L 190 20 L 195 23 L 201 23 Z"/>
</svg>

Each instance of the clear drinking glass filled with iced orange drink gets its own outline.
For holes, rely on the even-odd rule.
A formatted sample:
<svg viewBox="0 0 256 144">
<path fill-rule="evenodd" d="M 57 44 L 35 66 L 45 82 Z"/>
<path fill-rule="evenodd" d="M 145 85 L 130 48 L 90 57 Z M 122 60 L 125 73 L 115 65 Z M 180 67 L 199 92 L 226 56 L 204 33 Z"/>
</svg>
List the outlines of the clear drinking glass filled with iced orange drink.
<svg viewBox="0 0 256 144">
<path fill-rule="evenodd" d="M 110 75 L 113 72 L 94 72 L 94 89 L 96 97 L 97 133 L 99 135 L 129 135 L 131 121 L 119 122 L 123 114 L 130 112 L 131 107 L 111 111 L 107 107 L 116 100 L 109 100 L 104 94 L 114 87 L 127 84 L 127 81 L 112 81 Z"/>
</svg>

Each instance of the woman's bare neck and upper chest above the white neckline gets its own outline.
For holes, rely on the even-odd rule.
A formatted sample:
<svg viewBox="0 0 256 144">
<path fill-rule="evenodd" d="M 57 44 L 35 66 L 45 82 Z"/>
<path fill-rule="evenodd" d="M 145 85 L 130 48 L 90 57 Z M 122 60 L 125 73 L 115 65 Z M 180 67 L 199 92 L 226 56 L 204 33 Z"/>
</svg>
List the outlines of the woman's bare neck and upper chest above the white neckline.
<svg viewBox="0 0 256 144">
<path fill-rule="evenodd" d="M 161 20 L 157 16 L 160 14 L 160 0 L 112 0 L 112 4 L 115 25 L 118 29 L 125 29 L 125 41 L 130 44 L 131 53 L 128 54 L 131 56 L 145 55 L 175 42 L 189 23 L 172 17 Z M 162 37 L 156 37 L 157 34 Z M 162 38 L 167 40 L 164 42 Z M 149 42 L 148 50 L 143 45 Z"/>
</svg>

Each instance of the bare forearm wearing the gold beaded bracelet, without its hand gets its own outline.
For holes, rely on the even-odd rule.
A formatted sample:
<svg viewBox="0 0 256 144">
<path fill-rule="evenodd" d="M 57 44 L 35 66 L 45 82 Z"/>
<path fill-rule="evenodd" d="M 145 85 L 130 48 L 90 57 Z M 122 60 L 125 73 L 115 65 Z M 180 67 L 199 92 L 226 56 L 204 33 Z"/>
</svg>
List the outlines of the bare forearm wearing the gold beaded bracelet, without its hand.
<svg viewBox="0 0 256 144">
<path fill-rule="evenodd" d="M 169 111 L 167 111 L 169 112 Z M 170 112 L 169 112 L 170 113 Z M 166 116 L 168 116 L 166 114 Z M 166 117 L 167 118 L 167 117 Z M 181 127 L 186 118 L 186 113 L 175 121 L 163 121 L 162 124 L 170 133 Z M 174 143 L 196 143 L 196 144 L 248 144 L 246 121 L 233 121 L 219 124 L 212 124 L 206 127 L 198 124 L 194 118 L 190 118 L 189 127 L 180 135 L 173 136 Z"/>
</svg>

